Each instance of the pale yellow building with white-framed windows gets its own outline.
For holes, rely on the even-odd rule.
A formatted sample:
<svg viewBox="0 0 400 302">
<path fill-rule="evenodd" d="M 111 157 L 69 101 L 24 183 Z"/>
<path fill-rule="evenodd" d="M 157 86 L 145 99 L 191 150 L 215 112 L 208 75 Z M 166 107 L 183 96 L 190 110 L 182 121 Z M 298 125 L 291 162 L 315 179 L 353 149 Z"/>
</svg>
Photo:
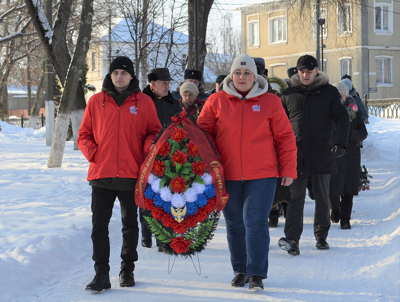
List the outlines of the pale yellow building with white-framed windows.
<svg viewBox="0 0 400 302">
<path fill-rule="evenodd" d="M 400 97 L 399 1 L 349 1 L 341 7 L 320 1 L 319 17 L 325 19 L 321 26 L 315 5 L 300 12 L 290 3 L 278 0 L 239 8 L 242 50 L 264 58 L 268 75 L 287 78 L 287 69 L 296 66 L 299 56 L 316 57 L 317 29 L 322 27 L 323 70 L 330 83 L 348 74 L 361 97 Z M 320 39 L 321 35 L 319 44 Z"/>
</svg>

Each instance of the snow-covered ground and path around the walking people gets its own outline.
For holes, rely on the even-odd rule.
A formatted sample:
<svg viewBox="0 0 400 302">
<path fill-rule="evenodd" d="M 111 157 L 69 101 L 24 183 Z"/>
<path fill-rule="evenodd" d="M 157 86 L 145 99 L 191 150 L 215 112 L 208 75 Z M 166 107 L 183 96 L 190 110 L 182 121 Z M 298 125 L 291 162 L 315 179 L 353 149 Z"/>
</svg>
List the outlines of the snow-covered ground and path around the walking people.
<svg viewBox="0 0 400 302">
<path fill-rule="evenodd" d="M 300 256 L 278 247 L 284 218 L 270 229 L 265 290 L 232 288 L 225 220 L 200 253 L 201 275 L 190 258 L 173 258 L 138 247 L 136 286 L 120 288 L 119 203 L 110 223 L 112 289 L 87 293 L 94 276 L 90 240 L 88 163 L 67 142 L 61 168 L 46 166 L 50 147 L 44 129 L 1 122 L 0 301 L 400 301 L 400 120 L 370 117 L 362 165 L 371 190 L 354 198 L 351 230 L 332 224 L 329 250 L 318 251 L 313 235 L 314 202 L 306 199 Z M 155 244 L 154 244 L 155 246 Z M 194 263 L 199 266 L 197 258 Z"/>
</svg>

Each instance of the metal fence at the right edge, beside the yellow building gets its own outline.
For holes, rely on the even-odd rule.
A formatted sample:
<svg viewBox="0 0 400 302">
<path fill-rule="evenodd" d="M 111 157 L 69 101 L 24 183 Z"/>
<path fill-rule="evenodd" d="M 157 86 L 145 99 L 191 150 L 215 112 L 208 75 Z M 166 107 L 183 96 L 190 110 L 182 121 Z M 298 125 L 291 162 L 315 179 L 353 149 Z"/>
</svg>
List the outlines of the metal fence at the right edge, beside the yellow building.
<svg viewBox="0 0 400 302">
<path fill-rule="evenodd" d="M 400 118 L 400 98 L 368 100 L 367 95 L 365 95 L 364 104 L 367 107 L 368 114 L 386 118 Z"/>
</svg>

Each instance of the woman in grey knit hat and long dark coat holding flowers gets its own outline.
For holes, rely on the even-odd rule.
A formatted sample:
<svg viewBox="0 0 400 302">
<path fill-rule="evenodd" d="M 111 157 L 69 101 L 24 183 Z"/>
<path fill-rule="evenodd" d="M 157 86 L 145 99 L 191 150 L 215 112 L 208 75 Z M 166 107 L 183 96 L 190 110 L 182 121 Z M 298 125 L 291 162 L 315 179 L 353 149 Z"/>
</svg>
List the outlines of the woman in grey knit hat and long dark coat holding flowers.
<svg viewBox="0 0 400 302">
<path fill-rule="evenodd" d="M 331 220 L 339 222 L 341 229 L 350 229 L 350 216 L 353 207 L 353 196 L 358 195 L 361 173 L 360 141 L 367 138 L 368 132 L 360 110 L 354 115 L 355 100 L 348 95 L 348 88 L 343 83 L 334 83 L 338 88 L 350 119 L 350 131 L 346 153 L 336 160 L 338 173 L 331 175 L 329 186 L 329 201 L 331 203 Z M 352 106 L 350 106 L 352 105 Z M 353 111 L 353 112 L 352 112 Z"/>
</svg>

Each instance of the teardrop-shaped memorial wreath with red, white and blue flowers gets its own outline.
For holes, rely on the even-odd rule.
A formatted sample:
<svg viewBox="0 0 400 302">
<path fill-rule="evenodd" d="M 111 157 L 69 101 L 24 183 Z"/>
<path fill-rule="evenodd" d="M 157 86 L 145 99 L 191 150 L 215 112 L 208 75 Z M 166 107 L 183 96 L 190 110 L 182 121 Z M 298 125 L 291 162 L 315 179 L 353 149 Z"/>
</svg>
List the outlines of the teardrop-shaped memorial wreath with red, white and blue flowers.
<svg viewBox="0 0 400 302">
<path fill-rule="evenodd" d="M 141 167 L 135 200 L 164 250 L 189 256 L 212 239 L 229 195 L 203 131 L 184 112 L 172 121 Z"/>
</svg>

